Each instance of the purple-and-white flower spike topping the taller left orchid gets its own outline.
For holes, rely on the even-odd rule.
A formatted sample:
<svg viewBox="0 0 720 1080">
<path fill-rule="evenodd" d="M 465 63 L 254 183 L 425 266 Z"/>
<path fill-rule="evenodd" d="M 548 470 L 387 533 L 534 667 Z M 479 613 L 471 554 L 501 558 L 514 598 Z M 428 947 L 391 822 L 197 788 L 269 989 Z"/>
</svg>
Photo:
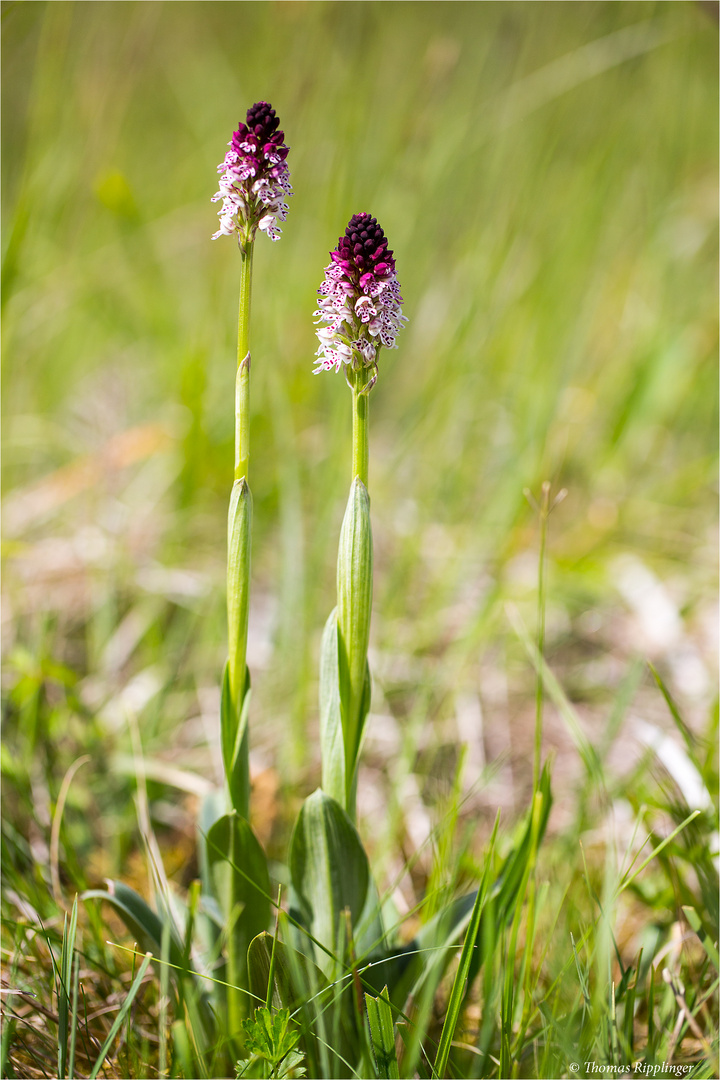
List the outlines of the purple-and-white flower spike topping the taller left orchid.
<svg viewBox="0 0 720 1080">
<path fill-rule="evenodd" d="M 218 165 L 220 190 L 213 202 L 221 199 L 222 208 L 213 240 L 236 232 L 237 243 L 244 246 L 258 229 L 280 240 L 277 222 L 287 217 L 285 197 L 293 194 L 293 188 L 285 161 L 289 148 L 279 124 L 275 110 L 267 102 L 257 102 L 247 110 L 245 123 L 233 132 L 230 149 Z"/>
</svg>

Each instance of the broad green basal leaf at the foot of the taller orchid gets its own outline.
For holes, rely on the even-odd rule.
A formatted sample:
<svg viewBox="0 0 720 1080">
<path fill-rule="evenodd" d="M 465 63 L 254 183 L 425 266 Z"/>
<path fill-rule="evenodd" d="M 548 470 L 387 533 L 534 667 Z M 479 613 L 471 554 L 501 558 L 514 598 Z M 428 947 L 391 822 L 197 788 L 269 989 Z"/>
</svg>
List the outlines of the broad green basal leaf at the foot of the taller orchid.
<svg viewBox="0 0 720 1080">
<path fill-rule="evenodd" d="M 228 927 L 228 982 L 240 989 L 245 986 L 247 947 L 270 921 L 268 862 L 249 823 L 234 811 L 207 834 L 207 862 L 213 894 Z M 245 1005 L 237 1004 L 237 1012 Z"/>
</svg>

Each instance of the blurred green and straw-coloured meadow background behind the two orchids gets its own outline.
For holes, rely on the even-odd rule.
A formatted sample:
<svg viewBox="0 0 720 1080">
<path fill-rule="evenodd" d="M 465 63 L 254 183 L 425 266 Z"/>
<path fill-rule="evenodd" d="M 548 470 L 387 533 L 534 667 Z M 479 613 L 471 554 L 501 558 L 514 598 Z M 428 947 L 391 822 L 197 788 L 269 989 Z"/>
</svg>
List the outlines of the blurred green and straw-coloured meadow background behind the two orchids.
<svg viewBox="0 0 720 1080">
<path fill-rule="evenodd" d="M 218 774 L 240 258 L 230 239 L 210 242 L 209 199 L 258 99 L 279 112 L 295 188 L 282 240 L 258 241 L 253 297 L 258 816 L 273 819 L 279 783 L 304 793 L 318 778 L 315 663 L 350 394 L 312 375 L 312 312 L 359 211 L 390 238 L 409 319 L 371 395 L 361 814 L 395 799 L 422 832 L 463 741 L 468 783 L 494 764 L 480 802 L 527 792 L 534 675 L 507 605 L 534 632 L 538 521 L 522 492 L 545 480 L 569 492 L 551 518 L 548 659 L 590 738 L 628 678 L 636 715 L 665 725 L 634 666 L 646 657 L 705 728 L 712 6 L 35 2 L 4 4 L 2 19 L 15 840 L 23 808 L 42 821 L 87 752 L 71 802 L 99 807 L 93 842 L 122 855 L 111 815 L 132 772 L 130 715 L 155 762 L 158 820 L 177 823 L 169 767 L 190 791 L 188 774 Z M 636 753 L 626 729 L 619 767 Z M 574 751 L 552 710 L 547 746 L 562 793 Z M 91 839 L 87 820 L 67 818 L 71 862 Z"/>
</svg>

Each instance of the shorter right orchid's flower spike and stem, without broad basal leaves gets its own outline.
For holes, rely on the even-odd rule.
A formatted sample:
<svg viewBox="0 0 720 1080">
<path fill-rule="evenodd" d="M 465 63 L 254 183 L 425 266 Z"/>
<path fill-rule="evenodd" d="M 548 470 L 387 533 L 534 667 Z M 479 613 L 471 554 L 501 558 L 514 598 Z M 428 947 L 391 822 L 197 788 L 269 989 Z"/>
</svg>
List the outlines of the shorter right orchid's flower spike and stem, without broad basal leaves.
<svg viewBox="0 0 720 1080">
<path fill-rule="evenodd" d="M 372 529 L 367 491 L 369 391 L 378 353 L 394 349 L 407 322 L 388 239 L 369 214 L 354 214 L 330 252 L 315 316 L 320 340 L 315 373 L 344 370 L 353 393 L 350 498 L 340 532 L 338 604 L 325 627 L 321 659 L 323 791 L 351 819 L 357 767 L 370 707 L 367 649 L 372 606 Z"/>
</svg>

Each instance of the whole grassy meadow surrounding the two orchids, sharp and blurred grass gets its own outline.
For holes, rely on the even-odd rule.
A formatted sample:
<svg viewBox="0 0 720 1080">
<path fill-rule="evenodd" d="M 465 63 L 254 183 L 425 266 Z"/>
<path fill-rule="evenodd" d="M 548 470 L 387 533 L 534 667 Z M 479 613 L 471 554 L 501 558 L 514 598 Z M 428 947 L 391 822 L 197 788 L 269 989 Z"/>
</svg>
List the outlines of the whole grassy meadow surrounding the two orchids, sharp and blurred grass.
<svg viewBox="0 0 720 1080">
<path fill-rule="evenodd" d="M 239 283 L 209 197 L 267 98 L 296 192 L 253 298 L 250 767 L 274 873 L 320 777 L 350 478 L 348 393 L 311 374 L 311 316 L 366 210 L 410 322 L 372 392 L 358 823 L 404 941 L 517 842 L 539 671 L 554 756 L 518 897 L 484 915 L 467 994 L 451 968 L 396 1028 L 402 1075 L 717 1076 L 716 23 L 676 2 L 2 19 L 3 956 L 27 991 L 3 996 L 3 1075 L 190 1075 L 162 963 L 123 951 L 105 908 L 81 904 L 74 930 L 70 912 L 104 877 L 149 894 L 160 859 L 171 893 L 198 876 L 196 804 L 221 777 Z M 543 659 L 524 489 L 545 481 L 568 497 Z"/>
</svg>

